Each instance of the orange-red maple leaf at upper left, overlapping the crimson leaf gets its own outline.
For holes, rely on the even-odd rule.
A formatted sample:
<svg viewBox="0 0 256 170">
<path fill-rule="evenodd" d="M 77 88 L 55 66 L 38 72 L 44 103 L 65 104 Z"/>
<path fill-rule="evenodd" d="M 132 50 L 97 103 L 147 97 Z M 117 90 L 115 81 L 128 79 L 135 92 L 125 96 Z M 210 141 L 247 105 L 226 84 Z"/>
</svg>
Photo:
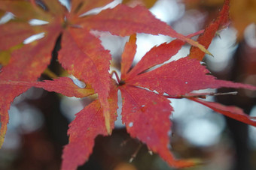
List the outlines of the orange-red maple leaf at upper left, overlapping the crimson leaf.
<svg viewBox="0 0 256 170">
<path fill-rule="evenodd" d="M 187 41 L 207 50 L 194 40 L 178 34 L 169 25 L 156 19 L 145 7 L 128 7 L 123 4 L 112 9 L 102 10 L 96 15 L 81 16 L 96 7 L 102 7 L 113 0 L 72 1 L 69 11 L 57 0 L 2 0 L 0 10 L 11 12 L 14 19 L 0 25 L 0 64 L 2 72 L 0 79 L 13 81 L 35 81 L 50 64 L 51 52 L 56 38 L 62 35 L 59 51 L 59 62 L 70 74 L 92 85 L 99 94 L 105 124 L 109 127 L 108 92 L 109 64 L 111 55 L 101 45 L 98 37 L 91 30 L 109 31 L 111 34 L 127 36 L 135 33 L 165 34 Z M 40 19 L 43 25 L 32 25 L 32 21 Z M 32 43 L 24 41 L 33 34 L 41 34 L 41 40 Z M 20 59 L 22 58 L 22 60 Z M 8 109 L 14 97 L 28 88 L 3 85 L 8 98 L 1 99 L 1 136 L 0 147 L 4 142 L 6 125 L 8 124 Z"/>
</svg>

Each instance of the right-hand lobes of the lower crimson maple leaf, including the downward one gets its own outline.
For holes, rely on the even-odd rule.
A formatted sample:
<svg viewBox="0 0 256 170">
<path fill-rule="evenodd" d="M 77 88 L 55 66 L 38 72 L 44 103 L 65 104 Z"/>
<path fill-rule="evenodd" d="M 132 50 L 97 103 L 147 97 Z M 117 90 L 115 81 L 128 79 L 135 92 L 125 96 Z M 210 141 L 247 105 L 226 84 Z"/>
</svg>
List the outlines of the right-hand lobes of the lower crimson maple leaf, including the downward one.
<svg viewBox="0 0 256 170">
<path fill-rule="evenodd" d="M 245 115 L 241 109 L 209 103 L 195 97 L 206 94 L 193 94 L 194 97 L 190 94 L 191 91 L 206 88 L 232 87 L 256 90 L 256 87 L 215 79 L 214 76 L 207 75 L 209 71 L 200 64 L 200 61 L 189 57 L 147 71 L 155 65 L 152 62 L 153 57 L 156 58 L 156 64 L 162 64 L 175 55 L 182 45 L 180 43 L 178 46 L 175 40 L 155 46 L 130 70 L 136 50 L 135 37 L 131 37 L 124 49 L 126 53 L 122 55 L 122 71 L 119 81 L 123 99 L 123 123 L 126 124 L 128 133 L 145 142 L 148 148 L 160 154 L 160 157 L 166 160 L 170 166 L 178 168 L 193 166 L 197 162 L 175 160 L 168 149 L 169 136 L 167 134 L 171 127 L 169 115 L 171 115 L 172 107 L 169 106 L 170 102 L 167 98 L 187 97 L 209 106 L 216 112 L 256 126 L 256 122 Z M 166 50 L 163 50 L 163 46 Z"/>
</svg>

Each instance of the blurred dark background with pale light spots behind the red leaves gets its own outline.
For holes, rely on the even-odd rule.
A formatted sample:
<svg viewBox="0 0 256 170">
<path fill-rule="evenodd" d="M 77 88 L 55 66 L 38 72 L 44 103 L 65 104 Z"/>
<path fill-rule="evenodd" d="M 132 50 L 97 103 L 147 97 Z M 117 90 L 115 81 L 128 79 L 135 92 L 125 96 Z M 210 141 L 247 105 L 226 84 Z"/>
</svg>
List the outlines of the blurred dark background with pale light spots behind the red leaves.
<svg viewBox="0 0 256 170">
<path fill-rule="evenodd" d="M 120 1 L 119 1 L 120 2 Z M 223 0 L 123 0 L 130 6 L 144 4 L 157 18 L 172 25 L 181 34 L 190 34 L 206 27 L 215 19 Z M 1 13 L 0 16 L 4 16 Z M 212 74 L 218 79 L 256 85 L 256 1 L 230 2 L 230 25 L 218 32 L 206 56 Z M 111 70 L 120 70 L 120 55 L 127 37 L 117 37 L 107 32 L 100 34 L 102 44 L 111 50 Z M 56 61 L 59 40 L 53 50 L 53 60 L 48 67 L 56 75 L 65 72 Z M 152 46 L 169 42 L 172 38 L 138 34 L 138 52 L 134 64 Z M 172 59 L 188 54 L 184 46 Z M 42 79 L 50 79 L 42 75 Z M 219 91 L 235 91 L 220 89 Z M 120 97 L 119 97 L 120 98 Z M 236 96 L 209 97 L 226 105 L 236 105 L 247 114 L 256 116 L 256 94 L 239 90 Z M 93 97 L 78 99 L 63 97 L 39 88 L 31 88 L 17 97 L 11 106 L 10 124 L 5 144 L 0 151 L 0 169 L 59 169 L 62 148 L 68 143 L 68 124 L 75 113 L 87 106 Z M 120 98 L 121 100 L 121 98 Z M 177 158 L 196 157 L 206 160 L 202 166 L 187 170 L 253 170 L 256 169 L 256 128 L 224 118 L 188 100 L 172 100 L 175 112 L 170 119 L 172 127 L 171 151 Z M 120 109 L 119 109 L 120 115 Z M 131 162 L 131 160 L 133 160 Z M 131 163 L 130 163 L 131 162 Z M 121 118 L 117 118 L 112 136 L 96 138 L 90 160 L 79 169 L 92 170 L 170 170 L 157 154 L 148 151 L 138 140 L 126 133 Z"/>
</svg>

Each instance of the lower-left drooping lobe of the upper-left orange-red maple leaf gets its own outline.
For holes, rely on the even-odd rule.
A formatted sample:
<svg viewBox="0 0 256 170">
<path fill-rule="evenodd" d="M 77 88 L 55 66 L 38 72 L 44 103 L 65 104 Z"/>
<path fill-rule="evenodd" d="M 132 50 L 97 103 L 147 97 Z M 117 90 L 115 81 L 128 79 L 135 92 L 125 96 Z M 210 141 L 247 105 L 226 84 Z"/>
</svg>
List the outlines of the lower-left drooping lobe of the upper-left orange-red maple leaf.
<svg viewBox="0 0 256 170">
<path fill-rule="evenodd" d="M 29 43 L 22 49 L 17 49 L 12 53 L 8 65 L 2 68 L 1 80 L 32 81 L 38 79 L 41 73 L 50 64 L 51 50 L 53 49 L 56 34 L 52 28 L 40 42 Z M 44 46 L 44 48 L 41 48 Z M 1 115 L 1 139 L 0 147 L 4 142 L 4 136 L 8 124 L 8 109 L 15 97 L 26 91 L 27 87 L 0 85 L 0 115 Z"/>
</svg>

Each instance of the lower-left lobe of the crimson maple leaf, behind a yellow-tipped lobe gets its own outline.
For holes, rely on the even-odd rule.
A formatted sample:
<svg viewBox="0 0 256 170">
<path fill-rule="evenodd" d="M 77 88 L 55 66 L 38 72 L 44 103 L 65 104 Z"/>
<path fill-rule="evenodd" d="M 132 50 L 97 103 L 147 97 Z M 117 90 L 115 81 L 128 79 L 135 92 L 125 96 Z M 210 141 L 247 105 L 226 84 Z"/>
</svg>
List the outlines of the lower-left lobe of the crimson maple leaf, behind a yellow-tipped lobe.
<svg viewBox="0 0 256 170">
<path fill-rule="evenodd" d="M 117 87 L 111 81 L 111 90 L 108 97 L 110 127 L 114 129 L 114 121 L 117 119 Z M 76 169 L 83 165 L 93 151 L 94 139 L 98 135 L 107 136 L 105 116 L 99 100 L 93 101 L 81 112 L 69 125 L 69 144 L 62 154 L 62 170 Z"/>
</svg>

